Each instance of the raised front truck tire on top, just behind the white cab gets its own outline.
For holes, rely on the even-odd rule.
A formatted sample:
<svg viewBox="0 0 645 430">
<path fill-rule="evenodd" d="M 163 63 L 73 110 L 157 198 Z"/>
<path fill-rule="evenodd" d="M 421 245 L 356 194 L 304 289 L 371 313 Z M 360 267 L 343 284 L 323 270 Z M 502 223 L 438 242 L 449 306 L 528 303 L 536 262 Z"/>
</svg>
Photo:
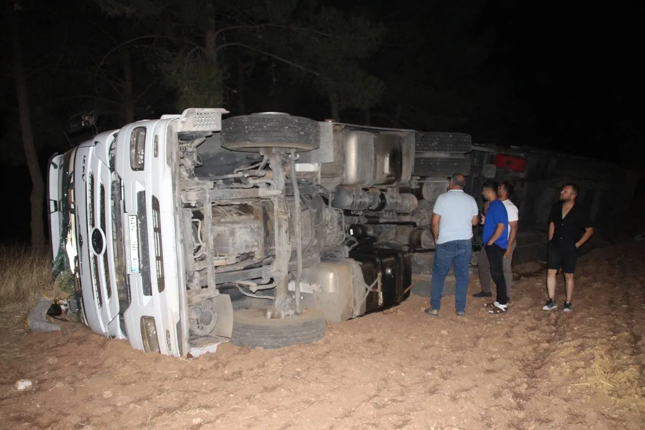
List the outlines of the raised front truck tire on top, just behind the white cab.
<svg viewBox="0 0 645 430">
<path fill-rule="evenodd" d="M 320 147 L 320 125 L 313 119 L 273 112 L 235 116 L 222 120 L 220 139 L 222 147 L 235 151 L 270 147 L 309 151 Z"/>
</svg>

